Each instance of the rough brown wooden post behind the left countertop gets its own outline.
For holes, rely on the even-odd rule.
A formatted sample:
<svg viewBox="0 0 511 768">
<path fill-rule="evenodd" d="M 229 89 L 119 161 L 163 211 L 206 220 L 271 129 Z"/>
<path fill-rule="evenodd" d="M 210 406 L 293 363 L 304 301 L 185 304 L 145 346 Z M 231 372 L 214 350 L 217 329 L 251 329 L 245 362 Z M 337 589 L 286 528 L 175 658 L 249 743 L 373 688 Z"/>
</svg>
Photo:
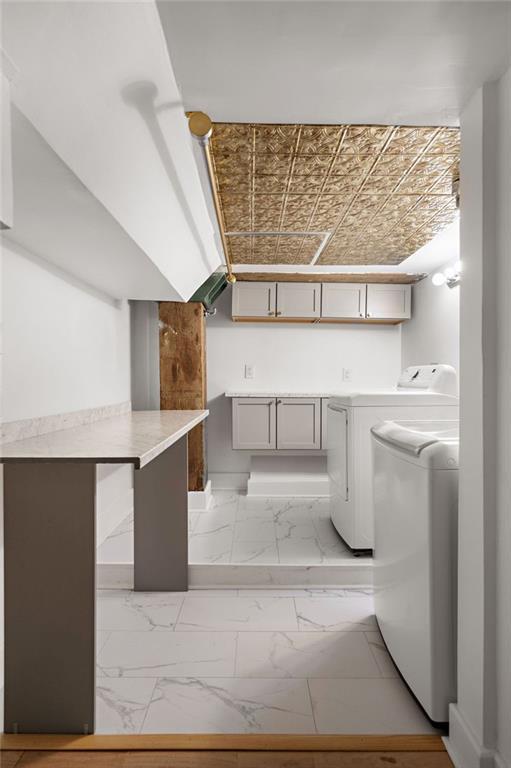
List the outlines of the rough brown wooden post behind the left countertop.
<svg viewBox="0 0 511 768">
<path fill-rule="evenodd" d="M 206 408 L 206 321 L 200 302 L 160 302 L 160 408 Z M 188 434 L 188 490 L 207 481 L 205 424 Z"/>
</svg>

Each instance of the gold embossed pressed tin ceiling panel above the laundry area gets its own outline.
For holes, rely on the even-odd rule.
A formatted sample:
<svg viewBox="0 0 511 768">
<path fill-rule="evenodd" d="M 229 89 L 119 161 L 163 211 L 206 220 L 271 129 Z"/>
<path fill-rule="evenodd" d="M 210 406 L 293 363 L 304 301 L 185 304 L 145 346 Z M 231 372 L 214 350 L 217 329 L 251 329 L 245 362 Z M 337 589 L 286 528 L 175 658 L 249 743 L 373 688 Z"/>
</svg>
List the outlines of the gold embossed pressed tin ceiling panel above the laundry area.
<svg viewBox="0 0 511 768">
<path fill-rule="evenodd" d="M 234 264 L 399 264 L 456 211 L 459 129 L 215 123 Z"/>
</svg>

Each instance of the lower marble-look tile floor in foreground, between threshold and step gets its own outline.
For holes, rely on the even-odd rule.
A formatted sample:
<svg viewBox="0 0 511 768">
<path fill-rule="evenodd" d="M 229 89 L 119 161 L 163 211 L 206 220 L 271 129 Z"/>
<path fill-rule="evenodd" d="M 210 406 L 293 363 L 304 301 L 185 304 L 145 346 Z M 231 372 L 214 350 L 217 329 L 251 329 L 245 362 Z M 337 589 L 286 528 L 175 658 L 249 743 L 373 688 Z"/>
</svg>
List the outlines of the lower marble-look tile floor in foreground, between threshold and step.
<svg viewBox="0 0 511 768">
<path fill-rule="evenodd" d="M 98 592 L 98 733 L 435 733 L 370 590 Z"/>
</svg>

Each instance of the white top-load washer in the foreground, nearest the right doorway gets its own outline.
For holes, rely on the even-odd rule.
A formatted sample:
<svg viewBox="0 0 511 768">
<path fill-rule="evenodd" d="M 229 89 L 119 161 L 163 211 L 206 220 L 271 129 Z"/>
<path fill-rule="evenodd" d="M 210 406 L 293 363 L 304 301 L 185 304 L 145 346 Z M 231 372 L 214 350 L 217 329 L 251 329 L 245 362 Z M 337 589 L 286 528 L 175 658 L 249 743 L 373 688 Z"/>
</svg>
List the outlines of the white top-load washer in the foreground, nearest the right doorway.
<svg viewBox="0 0 511 768">
<path fill-rule="evenodd" d="M 429 717 L 456 698 L 458 422 L 373 427 L 375 612 Z"/>
</svg>

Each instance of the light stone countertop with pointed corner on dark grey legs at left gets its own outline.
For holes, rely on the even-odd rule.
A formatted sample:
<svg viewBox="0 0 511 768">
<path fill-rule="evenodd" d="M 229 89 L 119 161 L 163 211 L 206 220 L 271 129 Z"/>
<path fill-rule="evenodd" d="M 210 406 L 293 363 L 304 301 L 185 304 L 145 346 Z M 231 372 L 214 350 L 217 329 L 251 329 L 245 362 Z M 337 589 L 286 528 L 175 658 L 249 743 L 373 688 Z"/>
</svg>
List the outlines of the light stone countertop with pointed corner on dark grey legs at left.
<svg viewBox="0 0 511 768">
<path fill-rule="evenodd" d="M 131 411 L 0 445 L 0 463 L 84 461 L 141 469 L 208 415 L 209 411 Z"/>
</svg>

